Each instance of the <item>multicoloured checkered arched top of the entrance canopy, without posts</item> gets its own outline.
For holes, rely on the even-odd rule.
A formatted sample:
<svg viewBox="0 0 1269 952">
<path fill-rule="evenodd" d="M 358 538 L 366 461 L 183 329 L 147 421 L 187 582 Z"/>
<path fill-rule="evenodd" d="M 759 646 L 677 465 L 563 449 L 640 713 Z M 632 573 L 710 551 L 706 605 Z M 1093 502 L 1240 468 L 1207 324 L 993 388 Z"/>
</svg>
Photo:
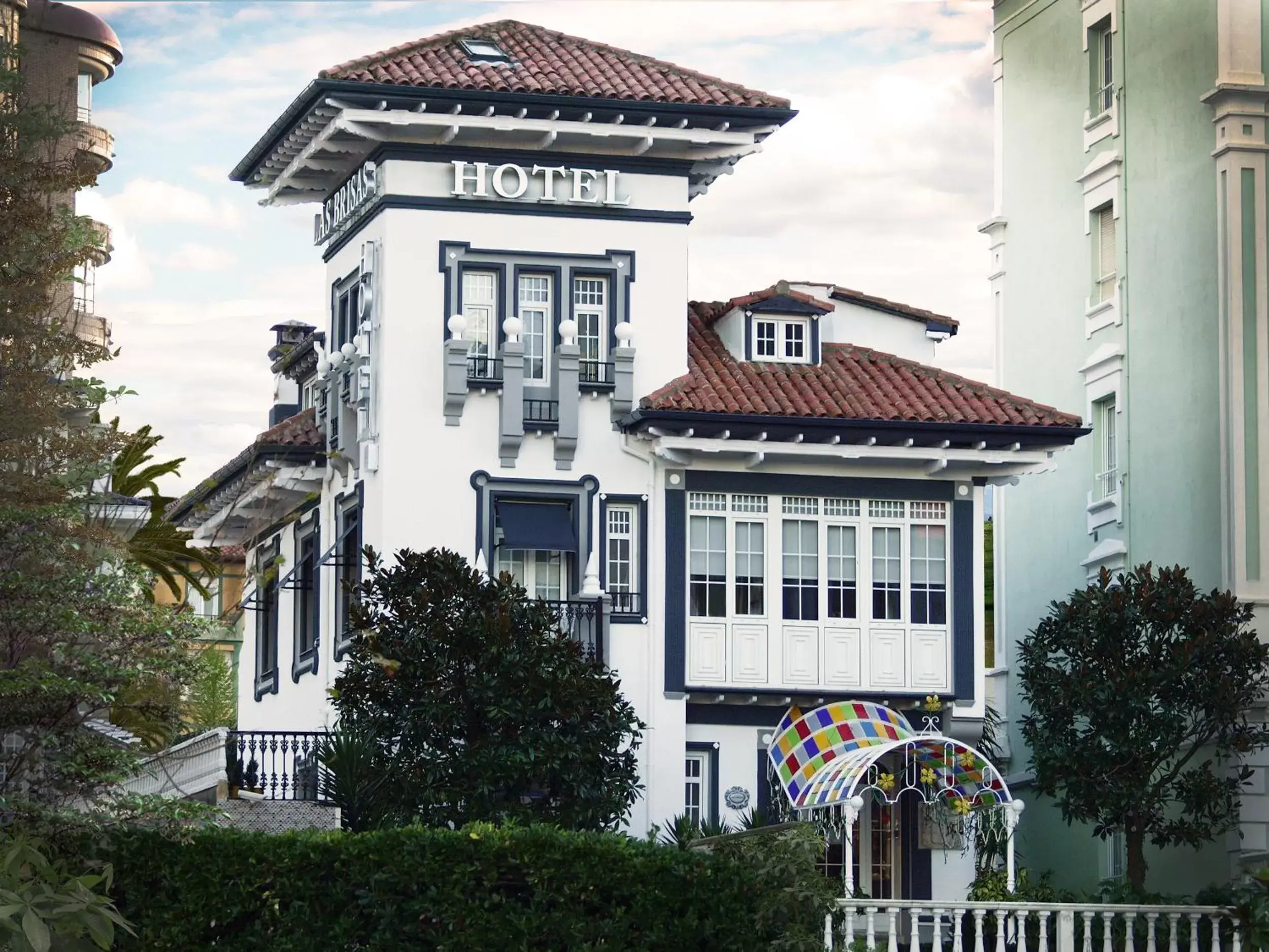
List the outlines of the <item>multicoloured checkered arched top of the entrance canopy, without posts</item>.
<svg viewBox="0 0 1269 952">
<path fill-rule="evenodd" d="M 872 702 L 825 704 L 806 715 L 791 708 L 768 755 L 798 810 L 838 806 L 869 788 L 892 802 L 914 790 L 926 801 L 963 801 L 966 809 L 1013 798 L 1000 772 L 968 744 L 917 734 L 902 715 Z"/>
</svg>

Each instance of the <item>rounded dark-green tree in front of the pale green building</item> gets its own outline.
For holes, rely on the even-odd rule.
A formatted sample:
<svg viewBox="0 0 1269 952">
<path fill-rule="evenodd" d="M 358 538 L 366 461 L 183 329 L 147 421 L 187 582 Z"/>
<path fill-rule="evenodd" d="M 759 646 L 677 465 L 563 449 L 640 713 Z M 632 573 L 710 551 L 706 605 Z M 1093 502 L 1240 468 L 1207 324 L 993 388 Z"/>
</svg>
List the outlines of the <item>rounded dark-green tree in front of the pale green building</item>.
<svg viewBox="0 0 1269 952">
<path fill-rule="evenodd" d="M 1250 770 L 1269 743 L 1247 712 L 1269 689 L 1269 645 L 1253 609 L 1202 594 L 1180 566 L 1148 564 L 1055 602 L 1020 644 L 1036 788 L 1067 823 L 1122 831 L 1141 894 L 1145 843 L 1199 847 L 1237 828 Z"/>
</svg>

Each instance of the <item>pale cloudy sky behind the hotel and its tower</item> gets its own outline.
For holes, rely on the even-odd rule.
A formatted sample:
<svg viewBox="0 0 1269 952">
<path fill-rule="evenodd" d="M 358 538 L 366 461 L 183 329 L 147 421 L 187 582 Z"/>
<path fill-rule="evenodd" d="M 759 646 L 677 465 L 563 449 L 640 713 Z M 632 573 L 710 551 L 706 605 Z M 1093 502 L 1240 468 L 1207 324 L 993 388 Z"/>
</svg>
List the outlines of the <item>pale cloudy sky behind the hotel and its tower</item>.
<svg viewBox="0 0 1269 952">
<path fill-rule="evenodd" d="M 124 60 L 95 90 L 114 168 L 79 209 L 110 225 L 98 311 L 137 396 L 128 426 L 193 486 L 266 423 L 269 326 L 322 324 L 312 208 L 260 208 L 228 171 L 317 71 L 514 18 L 787 96 L 799 114 L 693 201 L 692 297 L 827 281 L 961 320 L 939 363 L 992 378 L 991 5 L 901 0 L 86 3 Z M 808 187 L 813 184 L 813 187 Z"/>
</svg>

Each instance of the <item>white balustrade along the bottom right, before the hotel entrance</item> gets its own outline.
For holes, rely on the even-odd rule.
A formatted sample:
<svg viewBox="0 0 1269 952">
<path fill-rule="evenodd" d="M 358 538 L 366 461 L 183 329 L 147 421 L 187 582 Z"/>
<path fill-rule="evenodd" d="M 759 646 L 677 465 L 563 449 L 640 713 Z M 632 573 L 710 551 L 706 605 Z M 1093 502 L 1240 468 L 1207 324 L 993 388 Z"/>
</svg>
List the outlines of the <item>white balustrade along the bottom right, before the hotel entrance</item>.
<svg viewBox="0 0 1269 952">
<path fill-rule="evenodd" d="M 841 899 L 824 937 L 846 952 L 1160 952 L 1164 941 L 1167 952 L 1242 949 L 1232 909 L 1096 902 Z"/>
</svg>

